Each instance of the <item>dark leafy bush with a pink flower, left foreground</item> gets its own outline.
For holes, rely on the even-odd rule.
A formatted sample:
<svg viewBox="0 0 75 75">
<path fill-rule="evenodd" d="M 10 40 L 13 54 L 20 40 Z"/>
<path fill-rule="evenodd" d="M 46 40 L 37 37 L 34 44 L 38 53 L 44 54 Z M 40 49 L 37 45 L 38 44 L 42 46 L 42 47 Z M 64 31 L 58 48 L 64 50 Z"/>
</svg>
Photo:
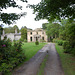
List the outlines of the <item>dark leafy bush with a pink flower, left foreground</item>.
<svg viewBox="0 0 75 75">
<path fill-rule="evenodd" d="M 15 42 L 12 45 L 9 39 L 0 41 L 0 72 L 10 72 L 24 61 L 25 55 L 23 55 L 21 44 L 21 42 Z"/>
</svg>

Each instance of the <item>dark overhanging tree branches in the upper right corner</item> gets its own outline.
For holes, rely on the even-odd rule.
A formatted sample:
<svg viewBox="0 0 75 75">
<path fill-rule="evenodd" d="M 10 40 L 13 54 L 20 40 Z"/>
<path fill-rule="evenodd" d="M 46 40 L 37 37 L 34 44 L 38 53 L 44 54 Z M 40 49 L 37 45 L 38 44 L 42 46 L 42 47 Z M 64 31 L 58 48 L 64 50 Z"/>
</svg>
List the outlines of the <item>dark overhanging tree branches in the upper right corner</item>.
<svg viewBox="0 0 75 75">
<path fill-rule="evenodd" d="M 75 0 L 41 0 L 37 5 L 29 5 L 36 14 L 36 20 L 55 18 L 75 18 Z"/>
</svg>

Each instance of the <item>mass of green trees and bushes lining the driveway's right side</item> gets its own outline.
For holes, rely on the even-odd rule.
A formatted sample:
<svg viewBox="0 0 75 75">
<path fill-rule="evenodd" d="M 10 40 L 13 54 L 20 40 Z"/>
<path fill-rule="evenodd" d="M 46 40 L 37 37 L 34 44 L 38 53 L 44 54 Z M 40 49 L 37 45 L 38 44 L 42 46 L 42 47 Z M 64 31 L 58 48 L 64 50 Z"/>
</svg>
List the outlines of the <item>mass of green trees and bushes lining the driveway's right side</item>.
<svg viewBox="0 0 75 75">
<path fill-rule="evenodd" d="M 60 24 L 49 22 L 46 24 L 46 33 L 52 37 L 53 42 L 63 45 L 64 52 L 75 55 L 75 21 L 70 19 L 61 20 Z"/>
</svg>

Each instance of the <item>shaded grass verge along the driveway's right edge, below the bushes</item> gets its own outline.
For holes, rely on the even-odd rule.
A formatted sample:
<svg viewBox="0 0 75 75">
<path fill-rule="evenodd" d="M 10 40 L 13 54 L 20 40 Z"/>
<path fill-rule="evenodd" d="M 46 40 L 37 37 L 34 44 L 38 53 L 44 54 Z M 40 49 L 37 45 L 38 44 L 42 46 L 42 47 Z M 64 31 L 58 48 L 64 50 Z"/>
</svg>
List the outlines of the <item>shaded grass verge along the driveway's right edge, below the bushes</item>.
<svg viewBox="0 0 75 75">
<path fill-rule="evenodd" d="M 56 44 L 65 75 L 75 75 L 75 56 L 63 52 L 63 47 Z"/>
</svg>

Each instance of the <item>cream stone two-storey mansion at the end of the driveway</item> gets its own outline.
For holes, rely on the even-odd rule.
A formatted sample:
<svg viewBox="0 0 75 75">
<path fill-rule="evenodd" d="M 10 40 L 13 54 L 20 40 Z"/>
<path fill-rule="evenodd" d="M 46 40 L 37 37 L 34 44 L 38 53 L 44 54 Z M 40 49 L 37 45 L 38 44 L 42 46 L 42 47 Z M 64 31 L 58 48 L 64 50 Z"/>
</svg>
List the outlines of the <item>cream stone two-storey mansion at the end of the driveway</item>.
<svg viewBox="0 0 75 75">
<path fill-rule="evenodd" d="M 35 30 L 28 30 L 27 31 L 27 41 L 28 42 L 35 42 L 35 41 L 41 41 L 44 40 L 47 42 L 47 35 L 45 30 L 41 28 L 37 28 Z"/>
</svg>

